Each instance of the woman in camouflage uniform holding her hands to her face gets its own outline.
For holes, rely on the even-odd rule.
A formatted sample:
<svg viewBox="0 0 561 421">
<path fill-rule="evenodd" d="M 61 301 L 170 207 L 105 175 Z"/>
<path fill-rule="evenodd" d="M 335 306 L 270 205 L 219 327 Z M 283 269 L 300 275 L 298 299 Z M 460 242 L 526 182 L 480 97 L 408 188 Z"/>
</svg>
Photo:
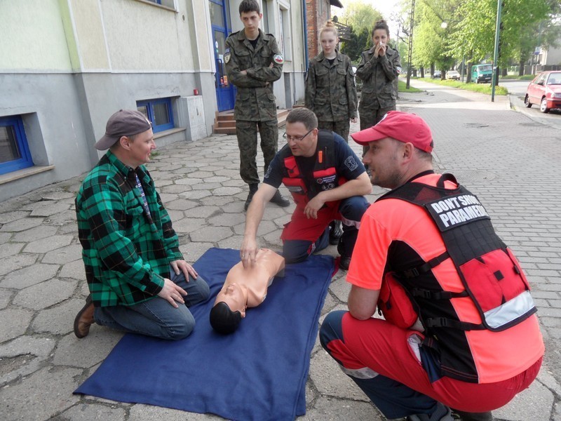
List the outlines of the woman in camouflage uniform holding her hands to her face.
<svg viewBox="0 0 561 421">
<path fill-rule="evenodd" d="M 374 46 L 363 51 L 356 75 L 363 81 L 358 105 L 360 130 L 374 126 L 388 112 L 396 109 L 396 79 L 401 72 L 399 52 L 388 46 L 390 30 L 385 20 L 372 29 Z"/>
</svg>

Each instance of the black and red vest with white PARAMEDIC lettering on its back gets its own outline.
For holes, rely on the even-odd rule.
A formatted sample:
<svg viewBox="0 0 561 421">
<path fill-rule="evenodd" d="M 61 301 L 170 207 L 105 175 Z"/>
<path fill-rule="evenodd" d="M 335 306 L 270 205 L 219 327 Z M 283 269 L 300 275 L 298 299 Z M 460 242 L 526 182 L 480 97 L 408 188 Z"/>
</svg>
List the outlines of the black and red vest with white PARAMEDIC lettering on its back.
<svg viewBox="0 0 561 421">
<path fill-rule="evenodd" d="M 446 180 L 458 187 L 445 189 Z M 480 324 L 469 323 L 459 318 L 443 317 L 436 310 L 435 314 L 421 312 L 421 322 L 429 332 L 433 327 L 501 331 L 536 312 L 518 260 L 494 232 L 487 210 L 475 195 L 457 183 L 453 175 L 442 175 L 436 187 L 407 182 L 378 200 L 384 199 L 401 199 L 424 208 L 438 227 L 447 249 L 423 265 L 397 272 L 397 279 L 414 279 L 450 258 L 465 288 L 461 292 L 449 292 L 412 287 L 407 288 L 410 298 L 414 301 L 415 298 L 451 300 L 470 297 L 482 319 Z"/>
</svg>

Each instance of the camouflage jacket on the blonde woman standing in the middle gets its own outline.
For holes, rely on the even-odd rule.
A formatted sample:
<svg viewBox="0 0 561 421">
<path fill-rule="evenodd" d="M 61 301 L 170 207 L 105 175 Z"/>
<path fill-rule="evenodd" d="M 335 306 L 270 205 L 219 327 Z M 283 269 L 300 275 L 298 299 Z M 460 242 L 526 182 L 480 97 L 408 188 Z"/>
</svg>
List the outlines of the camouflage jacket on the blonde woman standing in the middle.
<svg viewBox="0 0 561 421">
<path fill-rule="evenodd" d="M 358 98 L 351 59 L 337 52 L 331 65 L 321 52 L 310 60 L 305 98 L 321 121 L 354 119 Z"/>
</svg>

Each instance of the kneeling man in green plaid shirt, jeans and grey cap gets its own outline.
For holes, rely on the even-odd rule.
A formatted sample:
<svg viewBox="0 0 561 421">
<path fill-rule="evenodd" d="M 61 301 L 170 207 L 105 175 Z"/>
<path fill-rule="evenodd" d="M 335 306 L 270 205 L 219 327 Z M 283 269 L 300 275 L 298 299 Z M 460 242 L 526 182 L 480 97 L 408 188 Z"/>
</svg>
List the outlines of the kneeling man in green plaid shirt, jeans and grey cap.
<svg viewBox="0 0 561 421">
<path fill-rule="evenodd" d="M 168 340 L 195 326 L 189 309 L 210 293 L 185 262 L 170 216 L 144 164 L 156 149 L 151 123 L 121 109 L 96 149 L 109 149 L 76 196 L 78 234 L 90 295 L 74 320 L 78 338 L 95 322 Z"/>
</svg>

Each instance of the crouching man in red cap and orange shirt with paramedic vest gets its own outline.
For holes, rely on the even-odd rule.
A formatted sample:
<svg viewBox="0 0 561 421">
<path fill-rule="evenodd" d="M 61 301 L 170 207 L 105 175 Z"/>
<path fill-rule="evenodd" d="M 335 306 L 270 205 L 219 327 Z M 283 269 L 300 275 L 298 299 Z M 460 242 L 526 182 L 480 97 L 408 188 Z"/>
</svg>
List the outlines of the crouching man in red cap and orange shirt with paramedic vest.
<svg viewBox="0 0 561 421">
<path fill-rule="evenodd" d="M 388 418 L 492 420 L 543 358 L 536 308 L 518 260 L 477 197 L 433 171 L 423 119 L 388 112 L 351 137 L 372 184 L 346 280 L 348 312 L 320 342 Z M 374 319 L 375 310 L 384 319 Z"/>
</svg>

